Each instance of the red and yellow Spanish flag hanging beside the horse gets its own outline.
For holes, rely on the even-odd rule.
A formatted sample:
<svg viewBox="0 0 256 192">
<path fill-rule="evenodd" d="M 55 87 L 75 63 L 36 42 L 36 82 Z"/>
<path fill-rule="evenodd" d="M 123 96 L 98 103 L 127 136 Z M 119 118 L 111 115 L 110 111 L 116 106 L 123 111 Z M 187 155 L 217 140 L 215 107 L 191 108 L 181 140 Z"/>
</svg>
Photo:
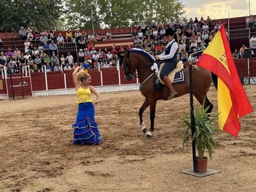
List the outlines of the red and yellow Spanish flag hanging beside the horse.
<svg viewBox="0 0 256 192">
<path fill-rule="evenodd" d="M 240 131 L 239 118 L 253 109 L 238 77 L 224 25 L 197 61 L 197 66 L 203 66 L 217 75 L 219 129 L 237 137 Z"/>
</svg>

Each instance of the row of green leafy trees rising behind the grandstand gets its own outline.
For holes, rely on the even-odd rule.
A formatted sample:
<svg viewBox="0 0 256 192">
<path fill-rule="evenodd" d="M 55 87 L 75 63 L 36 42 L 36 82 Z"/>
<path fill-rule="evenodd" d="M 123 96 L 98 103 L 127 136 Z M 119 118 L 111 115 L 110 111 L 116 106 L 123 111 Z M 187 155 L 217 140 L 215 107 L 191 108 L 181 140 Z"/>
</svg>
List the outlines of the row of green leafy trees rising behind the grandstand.
<svg viewBox="0 0 256 192">
<path fill-rule="evenodd" d="M 121 28 L 184 14 L 177 0 L 1 0 L 0 7 L 0 31 Z"/>
</svg>

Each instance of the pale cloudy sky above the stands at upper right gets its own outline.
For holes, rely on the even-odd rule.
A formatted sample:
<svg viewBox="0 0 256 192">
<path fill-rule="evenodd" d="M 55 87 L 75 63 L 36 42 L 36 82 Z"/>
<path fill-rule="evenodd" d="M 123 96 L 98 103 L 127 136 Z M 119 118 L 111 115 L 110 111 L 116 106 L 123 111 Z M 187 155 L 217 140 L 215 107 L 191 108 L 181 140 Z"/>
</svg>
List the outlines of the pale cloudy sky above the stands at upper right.
<svg viewBox="0 0 256 192">
<path fill-rule="evenodd" d="M 256 0 L 181 0 L 181 4 L 185 6 L 184 16 L 193 20 L 207 16 L 214 20 L 243 17 L 249 13 L 256 15 Z"/>
</svg>

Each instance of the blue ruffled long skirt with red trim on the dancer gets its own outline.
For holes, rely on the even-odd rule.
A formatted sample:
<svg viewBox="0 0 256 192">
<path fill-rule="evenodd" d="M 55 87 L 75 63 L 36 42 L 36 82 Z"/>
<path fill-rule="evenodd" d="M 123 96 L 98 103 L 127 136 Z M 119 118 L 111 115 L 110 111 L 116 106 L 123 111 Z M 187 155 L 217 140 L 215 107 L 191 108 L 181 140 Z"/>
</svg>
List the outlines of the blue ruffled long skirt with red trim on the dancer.
<svg viewBox="0 0 256 192">
<path fill-rule="evenodd" d="M 94 121 L 94 104 L 91 102 L 78 104 L 78 115 L 74 128 L 73 144 L 98 145 L 102 143 L 102 136 L 99 134 L 98 124 Z"/>
</svg>

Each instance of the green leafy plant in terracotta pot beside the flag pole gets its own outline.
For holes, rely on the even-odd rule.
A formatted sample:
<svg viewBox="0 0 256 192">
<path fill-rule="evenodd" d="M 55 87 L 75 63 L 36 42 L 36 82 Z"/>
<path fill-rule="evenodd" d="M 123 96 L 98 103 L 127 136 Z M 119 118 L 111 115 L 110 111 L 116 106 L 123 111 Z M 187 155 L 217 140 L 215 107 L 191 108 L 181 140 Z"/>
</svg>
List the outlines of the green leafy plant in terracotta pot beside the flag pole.
<svg viewBox="0 0 256 192">
<path fill-rule="evenodd" d="M 214 130 L 217 129 L 215 121 L 217 120 L 219 114 L 211 116 L 211 113 L 208 113 L 208 107 L 204 109 L 205 101 L 203 101 L 202 107 L 196 107 L 194 112 L 195 116 L 195 133 L 192 135 L 191 129 L 191 118 L 190 114 L 184 115 L 182 118 L 182 123 L 187 126 L 184 132 L 183 138 L 183 149 L 188 147 L 190 139 L 195 141 L 195 147 L 197 149 L 197 172 L 206 172 L 207 171 L 207 162 L 208 158 L 205 155 L 205 152 L 208 152 L 209 157 L 212 160 L 213 150 L 217 148 L 217 142 L 214 138 Z M 201 168 L 201 166 L 203 166 Z"/>
</svg>

